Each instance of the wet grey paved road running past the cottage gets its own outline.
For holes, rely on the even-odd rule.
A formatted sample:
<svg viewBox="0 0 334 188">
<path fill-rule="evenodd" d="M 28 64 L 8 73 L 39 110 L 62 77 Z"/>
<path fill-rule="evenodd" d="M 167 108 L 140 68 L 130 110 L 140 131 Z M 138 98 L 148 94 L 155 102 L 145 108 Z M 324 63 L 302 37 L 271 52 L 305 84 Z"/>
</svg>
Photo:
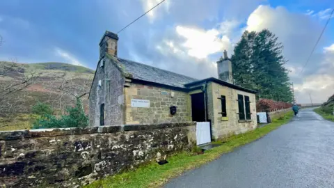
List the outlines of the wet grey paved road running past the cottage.
<svg viewBox="0 0 334 188">
<path fill-rule="evenodd" d="M 313 112 L 165 187 L 334 187 L 334 123 Z"/>
</svg>

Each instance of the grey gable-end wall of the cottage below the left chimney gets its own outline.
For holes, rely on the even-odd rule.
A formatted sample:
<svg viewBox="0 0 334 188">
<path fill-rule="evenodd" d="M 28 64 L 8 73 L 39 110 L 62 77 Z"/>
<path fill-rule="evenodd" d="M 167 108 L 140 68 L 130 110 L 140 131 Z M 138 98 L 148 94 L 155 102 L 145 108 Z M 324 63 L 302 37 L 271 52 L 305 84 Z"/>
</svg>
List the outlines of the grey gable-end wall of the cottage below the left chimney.
<svg viewBox="0 0 334 188">
<path fill-rule="evenodd" d="M 104 61 L 104 68 L 100 68 Z M 91 126 L 100 126 L 100 106 L 104 104 L 104 125 L 122 125 L 123 88 L 125 78 L 112 58 L 106 56 L 97 64 L 89 96 L 89 120 Z M 102 86 L 98 86 L 101 80 Z"/>
</svg>

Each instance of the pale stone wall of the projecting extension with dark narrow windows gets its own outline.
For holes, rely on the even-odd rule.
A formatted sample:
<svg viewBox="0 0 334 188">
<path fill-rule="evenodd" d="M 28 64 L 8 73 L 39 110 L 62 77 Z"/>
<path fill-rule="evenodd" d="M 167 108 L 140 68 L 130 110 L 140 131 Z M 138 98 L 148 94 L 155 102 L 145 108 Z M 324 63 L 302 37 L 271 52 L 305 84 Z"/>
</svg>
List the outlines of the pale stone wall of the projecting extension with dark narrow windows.
<svg viewBox="0 0 334 188">
<path fill-rule="evenodd" d="M 251 120 L 239 121 L 238 94 L 250 97 Z M 212 122 L 212 136 L 219 139 L 230 134 L 239 134 L 257 127 L 255 94 L 239 91 L 216 83 L 209 83 L 208 116 Z M 228 120 L 221 120 L 221 95 L 226 97 L 226 112 Z"/>
</svg>

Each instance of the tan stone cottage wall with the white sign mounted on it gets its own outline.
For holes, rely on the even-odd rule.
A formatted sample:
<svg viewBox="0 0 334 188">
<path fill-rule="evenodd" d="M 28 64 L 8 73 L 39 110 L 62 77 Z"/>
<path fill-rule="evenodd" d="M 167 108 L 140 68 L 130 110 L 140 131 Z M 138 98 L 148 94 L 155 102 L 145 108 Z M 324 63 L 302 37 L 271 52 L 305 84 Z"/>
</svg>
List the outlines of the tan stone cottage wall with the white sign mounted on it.
<svg viewBox="0 0 334 188">
<path fill-rule="evenodd" d="M 174 93 L 174 97 L 170 93 Z M 134 84 L 125 88 L 125 124 L 164 123 L 191 120 L 190 95 L 182 91 Z M 150 100 L 149 108 L 132 107 L 131 100 Z M 176 106 L 175 115 L 170 114 L 170 106 Z"/>
</svg>

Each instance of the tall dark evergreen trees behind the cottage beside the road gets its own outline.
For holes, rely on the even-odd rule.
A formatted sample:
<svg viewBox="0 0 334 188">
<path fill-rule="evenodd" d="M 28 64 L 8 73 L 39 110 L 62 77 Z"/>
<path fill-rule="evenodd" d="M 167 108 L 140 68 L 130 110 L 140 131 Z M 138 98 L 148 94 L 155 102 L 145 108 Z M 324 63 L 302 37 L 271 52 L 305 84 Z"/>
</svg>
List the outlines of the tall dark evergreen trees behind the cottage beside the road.
<svg viewBox="0 0 334 188">
<path fill-rule="evenodd" d="M 257 97 L 292 102 L 282 51 L 282 43 L 268 29 L 245 31 L 232 55 L 235 84 L 258 91 Z"/>
</svg>

